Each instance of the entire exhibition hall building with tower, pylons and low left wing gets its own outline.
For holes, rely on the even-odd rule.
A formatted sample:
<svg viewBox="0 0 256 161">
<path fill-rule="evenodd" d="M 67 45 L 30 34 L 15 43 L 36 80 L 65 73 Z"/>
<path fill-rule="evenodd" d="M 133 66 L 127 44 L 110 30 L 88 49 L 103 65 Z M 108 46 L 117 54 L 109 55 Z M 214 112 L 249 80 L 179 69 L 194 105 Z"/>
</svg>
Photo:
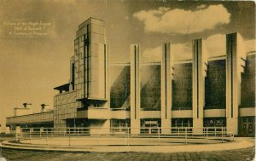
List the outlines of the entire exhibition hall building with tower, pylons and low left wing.
<svg viewBox="0 0 256 161">
<path fill-rule="evenodd" d="M 131 44 L 130 62 L 109 63 L 104 39 L 104 21 L 80 24 L 70 80 L 55 87 L 54 110 L 15 108 L 7 126 L 131 127 L 131 134 L 143 127 L 226 127 L 254 135 L 255 51 L 243 52 L 238 33 L 226 35 L 226 55 L 218 57 L 208 58 L 204 41 L 195 39 L 192 60 L 173 61 L 172 45 L 162 43 L 159 62 L 143 62 L 140 45 Z"/>
</svg>

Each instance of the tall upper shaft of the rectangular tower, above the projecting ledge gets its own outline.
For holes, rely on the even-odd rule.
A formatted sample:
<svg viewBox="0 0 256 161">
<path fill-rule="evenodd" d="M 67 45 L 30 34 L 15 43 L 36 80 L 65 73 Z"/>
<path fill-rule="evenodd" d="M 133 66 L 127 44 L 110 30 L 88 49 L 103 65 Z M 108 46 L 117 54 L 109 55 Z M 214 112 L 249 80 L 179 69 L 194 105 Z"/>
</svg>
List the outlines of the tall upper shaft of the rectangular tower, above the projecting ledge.
<svg viewBox="0 0 256 161">
<path fill-rule="evenodd" d="M 107 98 L 105 48 L 104 21 L 90 18 L 79 25 L 74 44 L 74 86 L 78 99 Z"/>
</svg>

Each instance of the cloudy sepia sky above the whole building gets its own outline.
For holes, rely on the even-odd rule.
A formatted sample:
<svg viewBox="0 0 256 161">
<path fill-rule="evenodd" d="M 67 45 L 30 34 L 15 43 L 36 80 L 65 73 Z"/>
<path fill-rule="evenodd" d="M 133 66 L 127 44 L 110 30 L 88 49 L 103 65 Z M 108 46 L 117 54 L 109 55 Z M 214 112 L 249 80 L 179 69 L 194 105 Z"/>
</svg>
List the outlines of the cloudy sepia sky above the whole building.
<svg viewBox="0 0 256 161">
<path fill-rule="evenodd" d="M 56 93 L 53 88 L 69 79 L 75 32 L 89 17 L 105 20 L 106 41 L 113 62 L 129 61 L 131 43 L 141 44 L 144 60 L 153 56 L 154 60 L 160 60 L 163 42 L 172 43 L 176 60 L 189 59 L 195 38 L 206 41 L 209 56 L 224 55 L 225 34 L 231 32 L 240 32 L 247 51 L 254 50 L 253 2 L 0 0 L 0 3 L 0 124 L 23 102 L 32 102 L 33 112 L 38 112 L 42 103 L 53 106 Z M 27 30 L 32 35 L 25 35 L 30 33 Z"/>
</svg>

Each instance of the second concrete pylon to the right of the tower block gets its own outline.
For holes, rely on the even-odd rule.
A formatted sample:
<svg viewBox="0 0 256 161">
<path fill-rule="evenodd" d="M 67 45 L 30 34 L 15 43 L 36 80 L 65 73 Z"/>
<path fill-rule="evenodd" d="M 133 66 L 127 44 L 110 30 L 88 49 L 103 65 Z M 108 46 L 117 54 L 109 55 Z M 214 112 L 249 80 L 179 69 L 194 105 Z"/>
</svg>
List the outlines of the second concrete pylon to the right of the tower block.
<svg viewBox="0 0 256 161">
<path fill-rule="evenodd" d="M 172 66 L 170 43 L 162 43 L 161 61 L 161 133 L 170 134 L 172 121 Z"/>
</svg>

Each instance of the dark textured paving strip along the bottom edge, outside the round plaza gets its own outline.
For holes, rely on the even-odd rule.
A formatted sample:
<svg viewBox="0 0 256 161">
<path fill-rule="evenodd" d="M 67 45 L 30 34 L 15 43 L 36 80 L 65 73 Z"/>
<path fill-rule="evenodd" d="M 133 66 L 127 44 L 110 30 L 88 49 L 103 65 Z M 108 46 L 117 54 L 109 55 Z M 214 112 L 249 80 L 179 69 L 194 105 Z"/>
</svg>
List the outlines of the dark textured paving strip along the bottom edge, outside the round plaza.
<svg viewBox="0 0 256 161">
<path fill-rule="evenodd" d="M 154 147 L 152 147 L 154 148 Z M 212 152 L 172 152 L 172 153 L 72 153 L 72 152 L 32 152 L 3 149 L 2 156 L 10 161 L 249 161 L 255 155 L 253 147 L 229 151 Z M 0 159 L 1 160 L 1 159 Z"/>
</svg>

